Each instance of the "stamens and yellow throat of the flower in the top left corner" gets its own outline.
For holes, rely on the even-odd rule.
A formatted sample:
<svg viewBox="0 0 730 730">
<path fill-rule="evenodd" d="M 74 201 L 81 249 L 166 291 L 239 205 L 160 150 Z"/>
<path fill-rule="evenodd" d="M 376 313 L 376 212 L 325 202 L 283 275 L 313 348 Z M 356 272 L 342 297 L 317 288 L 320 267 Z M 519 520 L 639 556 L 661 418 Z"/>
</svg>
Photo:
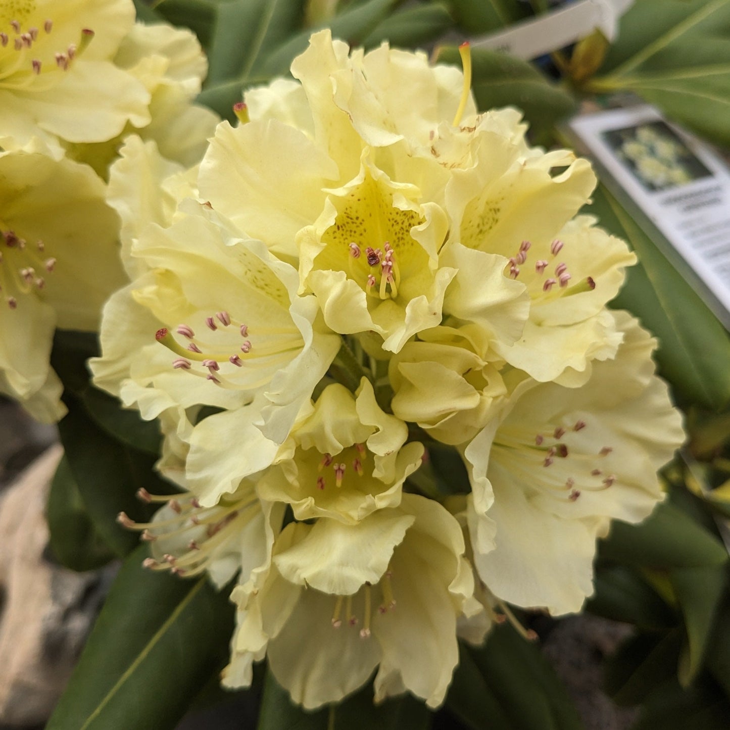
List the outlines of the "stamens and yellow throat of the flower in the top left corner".
<svg viewBox="0 0 730 730">
<path fill-rule="evenodd" d="M 32 15 L 29 9 L 24 15 Z M 0 88 L 10 91 L 46 91 L 61 73 L 68 71 L 93 38 L 93 31 L 83 28 L 77 43 L 53 46 L 53 20 L 32 24 L 18 17 L 0 15 Z M 20 18 L 20 19 L 19 19 Z M 43 78 L 39 82 L 38 77 Z"/>
</svg>

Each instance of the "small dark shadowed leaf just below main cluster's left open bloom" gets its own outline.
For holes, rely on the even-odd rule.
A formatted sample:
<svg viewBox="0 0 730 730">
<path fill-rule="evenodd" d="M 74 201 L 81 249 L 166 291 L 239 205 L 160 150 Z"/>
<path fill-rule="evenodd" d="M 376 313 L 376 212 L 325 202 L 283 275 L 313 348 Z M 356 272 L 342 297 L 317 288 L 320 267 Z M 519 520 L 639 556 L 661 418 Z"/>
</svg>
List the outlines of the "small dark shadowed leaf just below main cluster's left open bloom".
<svg viewBox="0 0 730 730">
<path fill-rule="evenodd" d="M 82 393 L 85 409 L 107 434 L 139 451 L 158 456 L 162 434 L 157 420 L 142 420 L 139 411 L 124 408 L 118 399 L 89 386 Z"/>
</svg>

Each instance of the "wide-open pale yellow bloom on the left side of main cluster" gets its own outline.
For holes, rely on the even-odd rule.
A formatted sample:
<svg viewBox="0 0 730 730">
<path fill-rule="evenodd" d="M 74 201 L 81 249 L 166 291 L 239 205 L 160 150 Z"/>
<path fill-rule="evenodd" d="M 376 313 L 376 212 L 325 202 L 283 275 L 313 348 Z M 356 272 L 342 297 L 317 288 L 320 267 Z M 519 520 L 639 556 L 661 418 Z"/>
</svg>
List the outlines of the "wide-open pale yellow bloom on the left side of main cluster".
<svg viewBox="0 0 730 730">
<path fill-rule="evenodd" d="M 169 228 L 150 223 L 131 255 L 147 271 L 104 309 L 96 383 L 144 418 L 223 409 L 194 426 L 187 459 L 191 489 L 213 504 L 269 466 L 339 337 L 297 296 L 296 269 L 195 201 Z"/>
</svg>

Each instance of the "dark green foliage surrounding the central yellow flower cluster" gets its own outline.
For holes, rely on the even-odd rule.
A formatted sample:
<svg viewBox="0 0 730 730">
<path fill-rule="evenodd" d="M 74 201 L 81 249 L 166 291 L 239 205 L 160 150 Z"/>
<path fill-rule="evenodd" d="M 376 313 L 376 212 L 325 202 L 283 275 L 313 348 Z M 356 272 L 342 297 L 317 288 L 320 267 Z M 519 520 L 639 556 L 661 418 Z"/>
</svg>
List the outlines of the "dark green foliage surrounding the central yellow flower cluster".
<svg viewBox="0 0 730 730">
<path fill-rule="evenodd" d="M 312 31 L 366 48 L 426 48 L 458 63 L 464 39 L 548 12 L 547 0 L 135 0 L 145 22 L 191 28 L 210 60 L 199 101 L 223 118 L 252 85 L 288 74 Z M 610 44 L 599 31 L 535 62 L 473 51 L 473 91 L 482 110 L 515 105 L 531 138 L 561 144 L 556 125 L 585 102 L 630 93 L 719 147 L 730 147 L 730 0 L 637 0 Z M 667 500 L 641 526 L 616 523 L 602 542 L 596 592 L 586 610 L 634 627 L 606 668 L 619 704 L 639 706 L 635 730 L 727 730 L 730 726 L 730 341 L 725 328 L 600 185 L 589 209 L 626 239 L 641 264 L 629 271 L 616 307 L 658 337 L 657 361 L 686 414 L 688 444 L 666 467 Z M 53 481 L 47 516 L 62 564 L 86 570 L 123 558 L 122 568 L 49 730 L 173 729 L 190 707 L 220 702 L 233 611 L 226 592 L 205 580 L 145 572 L 144 546 L 115 517 L 149 516 L 140 487 L 168 493 L 153 470 L 155 423 L 88 383 L 93 337 L 58 332 L 53 366 L 66 386 L 61 422 L 66 458 Z M 423 473 L 421 473 L 423 472 Z M 448 453 L 431 453 L 420 489 L 444 498 L 469 491 Z M 107 488 L 99 491 L 99 480 Z M 526 626 L 544 617 L 521 615 Z M 104 671 L 100 672 L 99 667 Z M 205 690 L 200 693 L 201 686 Z M 366 688 L 337 707 L 306 713 L 257 669 L 250 694 L 259 730 L 578 730 L 580 719 L 542 656 L 509 624 L 485 647 L 461 649 L 444 709 L 406 697 L 372 705 Z M 242 725 L 243 726 L 243 725 Z"/>
</svg>

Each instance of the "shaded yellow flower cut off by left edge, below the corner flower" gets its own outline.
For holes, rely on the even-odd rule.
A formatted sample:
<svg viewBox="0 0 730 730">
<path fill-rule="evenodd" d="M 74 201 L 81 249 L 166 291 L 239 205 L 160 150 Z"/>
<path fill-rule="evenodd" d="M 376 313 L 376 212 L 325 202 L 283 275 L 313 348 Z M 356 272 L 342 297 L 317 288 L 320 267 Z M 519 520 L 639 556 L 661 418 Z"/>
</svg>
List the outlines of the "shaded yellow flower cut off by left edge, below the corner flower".
<svg viewBox="0 0 730 730">
<path fill-rule="evenodd" d="M 118 218 L 84 165 L 0 155 L 0 392 L 45 423 L 64 415 L 49 356 L 55 328 L 96 331 L 123 284 Z"/>
</svg>

